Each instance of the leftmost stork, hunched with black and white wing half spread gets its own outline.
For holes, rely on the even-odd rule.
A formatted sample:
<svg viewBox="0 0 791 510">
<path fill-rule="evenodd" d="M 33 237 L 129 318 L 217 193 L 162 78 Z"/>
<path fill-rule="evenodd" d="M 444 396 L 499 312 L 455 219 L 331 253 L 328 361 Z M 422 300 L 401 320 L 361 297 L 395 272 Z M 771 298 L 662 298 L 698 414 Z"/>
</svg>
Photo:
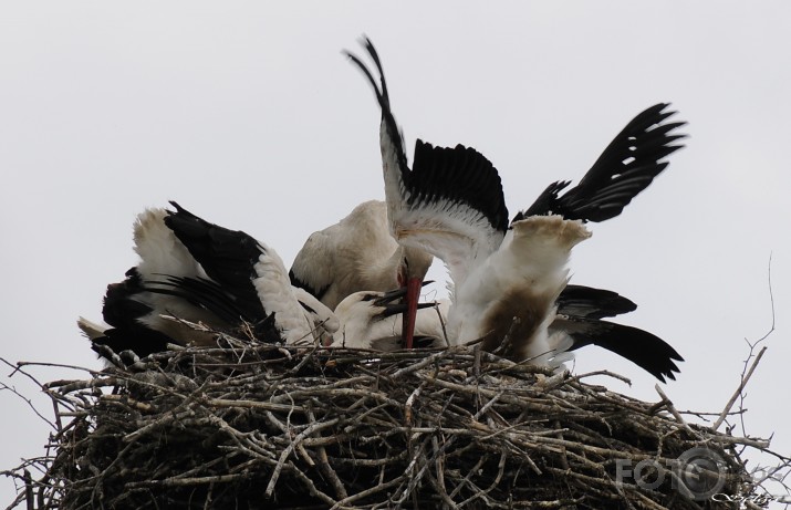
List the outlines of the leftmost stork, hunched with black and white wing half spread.
<svg viewBox="0 0 791 510">
<path fill-rule="evenodd" d="M 214 343 L 214 334 L 163 315 L 216 329 L 246 321 L 259 325 L 267 340 L 292 345 L 312 344 L 337 330 L 331 310 L 291 285 L 273 249 L 170 204 L 175 211 L 147 209 L 135 222 L 140 262 L 126 280 L 107 288 L 103 315 L 110 326 L 79 321 L 94 345 L 144 356 L 167 343 Z"/>
</svg>

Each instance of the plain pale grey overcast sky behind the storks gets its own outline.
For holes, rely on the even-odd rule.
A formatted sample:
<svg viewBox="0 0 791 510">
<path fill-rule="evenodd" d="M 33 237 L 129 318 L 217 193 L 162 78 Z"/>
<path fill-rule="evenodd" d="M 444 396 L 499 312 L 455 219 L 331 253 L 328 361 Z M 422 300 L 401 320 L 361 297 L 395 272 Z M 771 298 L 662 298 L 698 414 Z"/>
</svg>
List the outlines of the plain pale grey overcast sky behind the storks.
<svg viewBox="0 0 791 510">
<path fill-rule="evenodd" d="M 366 33 L 409 152 L 416 137 L 476 147 L 511 212 L 579 179 L 635 114 L 673 102 L 687 148 L 621 217 L 591 227 L 572 281 L 634 300 L 621 322 L 686 358 L 668 396 L 719 412 L 745 339 L 771 326 L 771 256 L 777 329 L 746 423 L 791 454 L 791 4 L 491 6 L 0 3 L 0 356 L 101 366 L 75 321 L 100 320 L 107 283 L 136 263 L 132 222 L 145 207 L 177 200 L 290 264 L 312 231 L 383 198 L 378 107 L 341 54 Z M 595 347 L 572 368 L 613 370 L 633 385 L 606 381 L 612 389 L 659 398 L 648 374 Z M 0 382 L 49 414 L 10 372 Z M 0 470 L 42 455 L 46 424 L 10 392 L 0 408 Z M 12 493 L 0 479 L 0 507 Z"/>
</svg>

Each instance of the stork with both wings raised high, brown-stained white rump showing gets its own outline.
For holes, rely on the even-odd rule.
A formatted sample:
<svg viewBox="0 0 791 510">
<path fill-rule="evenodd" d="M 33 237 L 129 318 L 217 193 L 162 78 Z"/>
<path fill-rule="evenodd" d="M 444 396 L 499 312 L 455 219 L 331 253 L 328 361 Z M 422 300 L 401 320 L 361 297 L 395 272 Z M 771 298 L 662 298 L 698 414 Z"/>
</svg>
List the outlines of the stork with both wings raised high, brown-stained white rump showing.
<svg viewBox="0 0 791 510">
<path fill-rule="evenodd" d="M 665 123 L 674 112 L 657 104 L 638 114 L 605 148 L 587 174 L 561 195 L 569 181 L 551 184 L 535 202 L 508 221 L 500 177 L 473 148 L 435 147 L 418 139 L 413 168 L 395 117 L 381 60 L 364 41 L 378 83 L 356 55 L 382 110 L 381 149 L 391 232 L 404 244 L 440 258 L 454 282 L 448 337 L 455 343 L 483 339 L 495 350 L 504 337 L 507 354 L 543 363 L 552 345 L 558 303 L 568 283 L 571 249 L 590 237 L 586 221 L 604 221 L 667 167 L 680 148 Z M 673 351 L 672 360 L 681 357 Z M 674 365 L 675 366 L 675 365 Z"/>
</svg>

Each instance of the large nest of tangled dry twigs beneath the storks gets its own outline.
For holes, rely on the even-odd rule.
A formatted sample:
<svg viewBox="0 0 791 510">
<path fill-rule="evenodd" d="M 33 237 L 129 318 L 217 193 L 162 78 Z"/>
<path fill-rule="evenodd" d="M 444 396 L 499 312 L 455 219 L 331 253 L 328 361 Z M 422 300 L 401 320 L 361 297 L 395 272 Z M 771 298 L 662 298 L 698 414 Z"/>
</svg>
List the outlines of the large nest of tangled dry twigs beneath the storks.
<svg viewBox="0 0 791 510">
<path fill-rule="evenodd" d="M 105 355 L 114 366 L 44 385 L 58 431 L 18 470 L 43 471 L 25 473 L 29 508 L 687 509 L 754 490 L 736 450 L 750 439 L 476 346 L 220 334 Z"/>
</svg>

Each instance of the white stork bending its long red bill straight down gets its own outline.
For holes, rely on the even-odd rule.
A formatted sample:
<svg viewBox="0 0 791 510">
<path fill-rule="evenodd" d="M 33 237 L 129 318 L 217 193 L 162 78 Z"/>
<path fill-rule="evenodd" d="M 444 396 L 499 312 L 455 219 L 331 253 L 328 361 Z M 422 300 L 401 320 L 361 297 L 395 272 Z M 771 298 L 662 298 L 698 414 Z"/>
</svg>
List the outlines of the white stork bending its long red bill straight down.
<svg viewBox="0 0 791 510">
<path fill-rule="evenodd" d="M 420 287 L 433 260 L 424 250 L 396 242 L 387 227 L 385 202 L 370 200 L 337 223 L 313 232 L 289 275 L 293 285 L 332 310 L 355 292 L 406 287 L 402 334 L 403 345 L 412 348 Z"/>
</svg>

